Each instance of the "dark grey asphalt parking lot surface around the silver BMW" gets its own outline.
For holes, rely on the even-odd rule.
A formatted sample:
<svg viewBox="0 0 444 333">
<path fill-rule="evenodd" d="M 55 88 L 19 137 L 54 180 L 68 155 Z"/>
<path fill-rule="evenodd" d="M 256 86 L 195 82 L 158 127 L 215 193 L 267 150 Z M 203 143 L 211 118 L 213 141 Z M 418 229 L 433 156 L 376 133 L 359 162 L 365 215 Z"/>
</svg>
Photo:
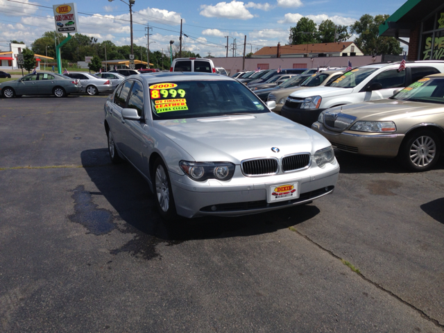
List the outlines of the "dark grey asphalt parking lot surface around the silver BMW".
<svg viewBox="0 0 444 333">
<path fill-rule="evenodd" d="M 336 152 L 330 196 L 171 227 L 105 98 L 0 99 L 1 332 L 443 332 L 444 160 Z"/>
</svg>

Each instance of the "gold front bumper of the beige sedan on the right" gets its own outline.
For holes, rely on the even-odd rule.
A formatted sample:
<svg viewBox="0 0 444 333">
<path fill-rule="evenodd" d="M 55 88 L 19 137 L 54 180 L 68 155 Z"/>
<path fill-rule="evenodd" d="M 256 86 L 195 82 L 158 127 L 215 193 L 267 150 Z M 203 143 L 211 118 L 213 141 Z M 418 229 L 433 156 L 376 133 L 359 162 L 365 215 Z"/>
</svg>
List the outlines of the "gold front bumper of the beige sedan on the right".
<svg viewBox="0 0 444 333">
<path fill-rule="evenodd" d="M 404 134 L 364 133 L 355 130 L 339 133 L 325 128 L 318 121 L 311 125 L 311 129 L 323 135 L 332 146 L 341 151 L 380 157 L 396 157 L 405 137 Z"/>
</svg>

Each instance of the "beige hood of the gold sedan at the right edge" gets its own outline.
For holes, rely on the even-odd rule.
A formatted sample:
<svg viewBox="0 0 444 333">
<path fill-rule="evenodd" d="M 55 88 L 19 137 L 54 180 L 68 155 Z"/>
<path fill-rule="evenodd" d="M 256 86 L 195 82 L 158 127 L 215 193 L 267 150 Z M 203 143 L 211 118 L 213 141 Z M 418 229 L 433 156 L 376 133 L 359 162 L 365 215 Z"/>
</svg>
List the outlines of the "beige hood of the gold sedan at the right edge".
<svg viewBox="0 0 444 333">
<path fill-rule="evenodd" d="M 422 103 L 412 101 L 397 101 L 394 99 L 379 99 L 364 103 L 343 105 L 331 110 L 341 110 L 342 113 L 366 121 L 395 121 L 406 117 L 420 117 L 427 114 L 444 113 L 444 105 L 438 103 Z"/>
</svg>

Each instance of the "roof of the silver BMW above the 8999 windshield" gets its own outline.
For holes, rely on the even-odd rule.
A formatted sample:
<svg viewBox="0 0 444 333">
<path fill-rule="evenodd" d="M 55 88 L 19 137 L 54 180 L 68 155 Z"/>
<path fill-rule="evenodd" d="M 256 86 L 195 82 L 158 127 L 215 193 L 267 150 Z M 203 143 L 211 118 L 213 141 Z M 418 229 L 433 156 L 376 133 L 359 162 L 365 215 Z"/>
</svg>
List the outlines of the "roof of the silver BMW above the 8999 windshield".
<svg viewBox="0 0 444 333">
<path fill-rule="evenodd" d="M 131 75 L 128 78 L 139 78 L 139 80 L 143 80 L 146 83 L 157 83 L 157 82 L 166 82 L 167 80 L 174 81 L 187 81 L 187 80 L 232 80 L 235 82 L 239 82 L 234 78 L 230 78 L 230 76 L 219 75 L 219 74 L 209 74 L 209 73 L 200 73 L 196 71 L 168 71 L 168 72 L 156 72 L 151 75 Z"/>
</svg>

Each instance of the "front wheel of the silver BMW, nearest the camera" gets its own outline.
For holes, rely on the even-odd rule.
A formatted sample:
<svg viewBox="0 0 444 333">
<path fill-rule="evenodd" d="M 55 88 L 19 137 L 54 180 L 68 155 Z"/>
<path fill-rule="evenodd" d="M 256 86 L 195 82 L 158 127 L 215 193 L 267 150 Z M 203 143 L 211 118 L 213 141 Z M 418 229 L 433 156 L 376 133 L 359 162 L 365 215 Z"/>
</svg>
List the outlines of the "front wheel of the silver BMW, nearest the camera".
<svg viewBox="0 0 444 333">
<path fill-rule="evenodd" d="M 167 167 L 164 161 L 158 157 L 153 164 L 153 182 L 155 204 L 159 214 L 165 221 L 173 222 L 178 219 L 176 204 L 174 203 L 173 191 L 171 190 L 171 181 Z"/>
</svg>

